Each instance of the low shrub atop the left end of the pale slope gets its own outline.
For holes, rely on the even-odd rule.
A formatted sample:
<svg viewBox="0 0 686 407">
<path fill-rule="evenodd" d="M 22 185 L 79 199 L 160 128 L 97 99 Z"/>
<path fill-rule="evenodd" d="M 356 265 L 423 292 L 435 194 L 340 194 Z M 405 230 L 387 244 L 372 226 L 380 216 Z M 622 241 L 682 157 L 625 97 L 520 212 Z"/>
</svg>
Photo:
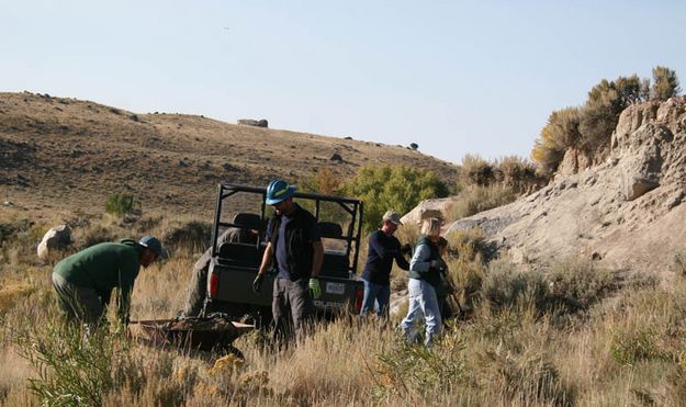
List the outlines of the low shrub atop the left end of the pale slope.
<svg viewBox="0 0 686 407">
<path fill-rule="evenodd" d="M 510 188 L 502 184 L 472 185 L 462 190 L 456 197 L 448 218 L 461 219 L 514 202 L 517 196 Z"/>
</svg>

